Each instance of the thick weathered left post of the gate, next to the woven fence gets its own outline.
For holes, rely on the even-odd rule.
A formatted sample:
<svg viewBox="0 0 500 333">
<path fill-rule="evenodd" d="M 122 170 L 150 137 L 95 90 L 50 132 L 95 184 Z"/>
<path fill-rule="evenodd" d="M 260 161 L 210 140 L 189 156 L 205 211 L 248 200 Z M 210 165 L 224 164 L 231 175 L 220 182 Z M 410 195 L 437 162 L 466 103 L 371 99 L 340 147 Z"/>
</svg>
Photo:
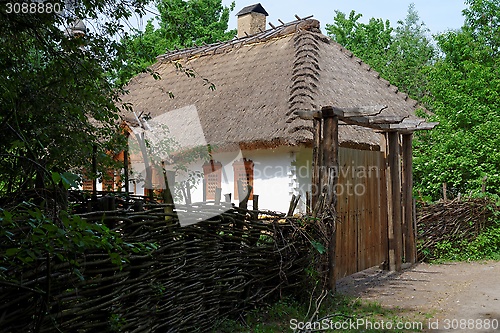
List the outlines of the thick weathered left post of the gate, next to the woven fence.
<svg viewBox="0 0 500 333">
<path fill-rule="evenodd" d="M 323 108 L 323 140 L 321 142 L 322 163 L 320 168 L 320 191 L 323 205 L 323 216 L 328 230 L 328 288 L 335 292 L 336 269 L 335 257 L 337 246 L 336 204 L 335 193 L 338 182 L 338 149 L 339 149 L 339 122 L 333 108 Z M 326 213 L 326 215 L 325 215 Z"/>
</svg>

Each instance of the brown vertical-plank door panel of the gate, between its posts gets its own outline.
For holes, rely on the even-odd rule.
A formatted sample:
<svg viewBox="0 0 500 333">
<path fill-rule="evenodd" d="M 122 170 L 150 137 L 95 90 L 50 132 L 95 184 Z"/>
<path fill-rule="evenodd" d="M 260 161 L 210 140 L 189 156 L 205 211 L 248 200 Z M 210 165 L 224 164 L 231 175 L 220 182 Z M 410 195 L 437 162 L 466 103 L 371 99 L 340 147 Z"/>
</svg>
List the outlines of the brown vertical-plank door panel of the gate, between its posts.
<svg viewBox="0 0 500 333">
<path fill-rule="evenodd" d="M 339 148 L 336 278 L 376 266 L 388 256 L 385 157 Z"/>
</svg>

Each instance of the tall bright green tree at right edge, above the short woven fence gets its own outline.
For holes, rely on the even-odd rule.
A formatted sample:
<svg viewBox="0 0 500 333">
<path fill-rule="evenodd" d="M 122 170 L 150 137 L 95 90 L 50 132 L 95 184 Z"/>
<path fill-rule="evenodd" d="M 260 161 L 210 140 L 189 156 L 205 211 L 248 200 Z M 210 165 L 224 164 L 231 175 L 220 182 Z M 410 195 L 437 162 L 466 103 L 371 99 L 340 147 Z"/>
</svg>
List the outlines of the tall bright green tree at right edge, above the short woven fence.
<svg viewBox="0 0 500 333">
<path fill-rule="evenodd" d="M 497 1 L 470 0 L 465 24 L 436 36 L 441 58 L 429 68 L 424 99 L 440 126 L 416 140 L 415 181 L 437 199 L 442 183 L 469 194 L 499 194 L 500 61 Z"/>
</svg>

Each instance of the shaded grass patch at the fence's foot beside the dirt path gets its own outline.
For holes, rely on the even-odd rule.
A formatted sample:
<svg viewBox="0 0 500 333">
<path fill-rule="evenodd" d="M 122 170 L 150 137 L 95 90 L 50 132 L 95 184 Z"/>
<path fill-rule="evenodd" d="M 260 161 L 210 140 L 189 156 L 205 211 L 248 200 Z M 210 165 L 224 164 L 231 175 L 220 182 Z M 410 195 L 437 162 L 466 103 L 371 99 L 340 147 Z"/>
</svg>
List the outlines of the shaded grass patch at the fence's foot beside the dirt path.
<svg viewBox="0 0 500 333">
<path fill-rule="evenodd" d="M 431 315 L 414 315 L 404 309 L 388 309 L 375 302 L 336 295 L 328 295 L 320 306 L 320 311 L 310 320 L 314 312 L 314 302 L 299 302 L 286 298 L 277 303 L 248 312 L 238 320 L 226 319 L 218 323 L 213 331 L 218 333 L 282 333 L 282 332 L 420 332 Z M 307 318 L 307 319 L 306 319 Z M 350 323 L 359 323 L 355 328 Z M 342 325 L 344 327 L 336 327 Z M 403 325 L 397 329 L 398 324 Z M 408 329 L 404 329 L 404 325 Z M 298 330 L 298 328 L 304 328 Z M 311 328 L 311 330 L 306 330 Z M 339 328 L 339 330 L 335 330 Z"/>
</svg>

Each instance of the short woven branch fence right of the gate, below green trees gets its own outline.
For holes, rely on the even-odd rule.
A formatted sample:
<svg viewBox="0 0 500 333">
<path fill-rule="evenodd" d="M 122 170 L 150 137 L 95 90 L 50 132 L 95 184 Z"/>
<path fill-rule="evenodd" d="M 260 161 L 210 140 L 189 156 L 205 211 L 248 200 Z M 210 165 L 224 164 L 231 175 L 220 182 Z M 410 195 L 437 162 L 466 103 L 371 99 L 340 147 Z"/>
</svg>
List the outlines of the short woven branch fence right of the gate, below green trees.
<svg viewBox="0 0 500 333">
<path fill-rule="evenodd" d="M 436 259 L 436 245 L 443 241 L 472 241 L 495 223 L 495 211 L 500 207 L 487 198 L 423 205 L 417 209 L 418 259 Z"/>
</svg>

